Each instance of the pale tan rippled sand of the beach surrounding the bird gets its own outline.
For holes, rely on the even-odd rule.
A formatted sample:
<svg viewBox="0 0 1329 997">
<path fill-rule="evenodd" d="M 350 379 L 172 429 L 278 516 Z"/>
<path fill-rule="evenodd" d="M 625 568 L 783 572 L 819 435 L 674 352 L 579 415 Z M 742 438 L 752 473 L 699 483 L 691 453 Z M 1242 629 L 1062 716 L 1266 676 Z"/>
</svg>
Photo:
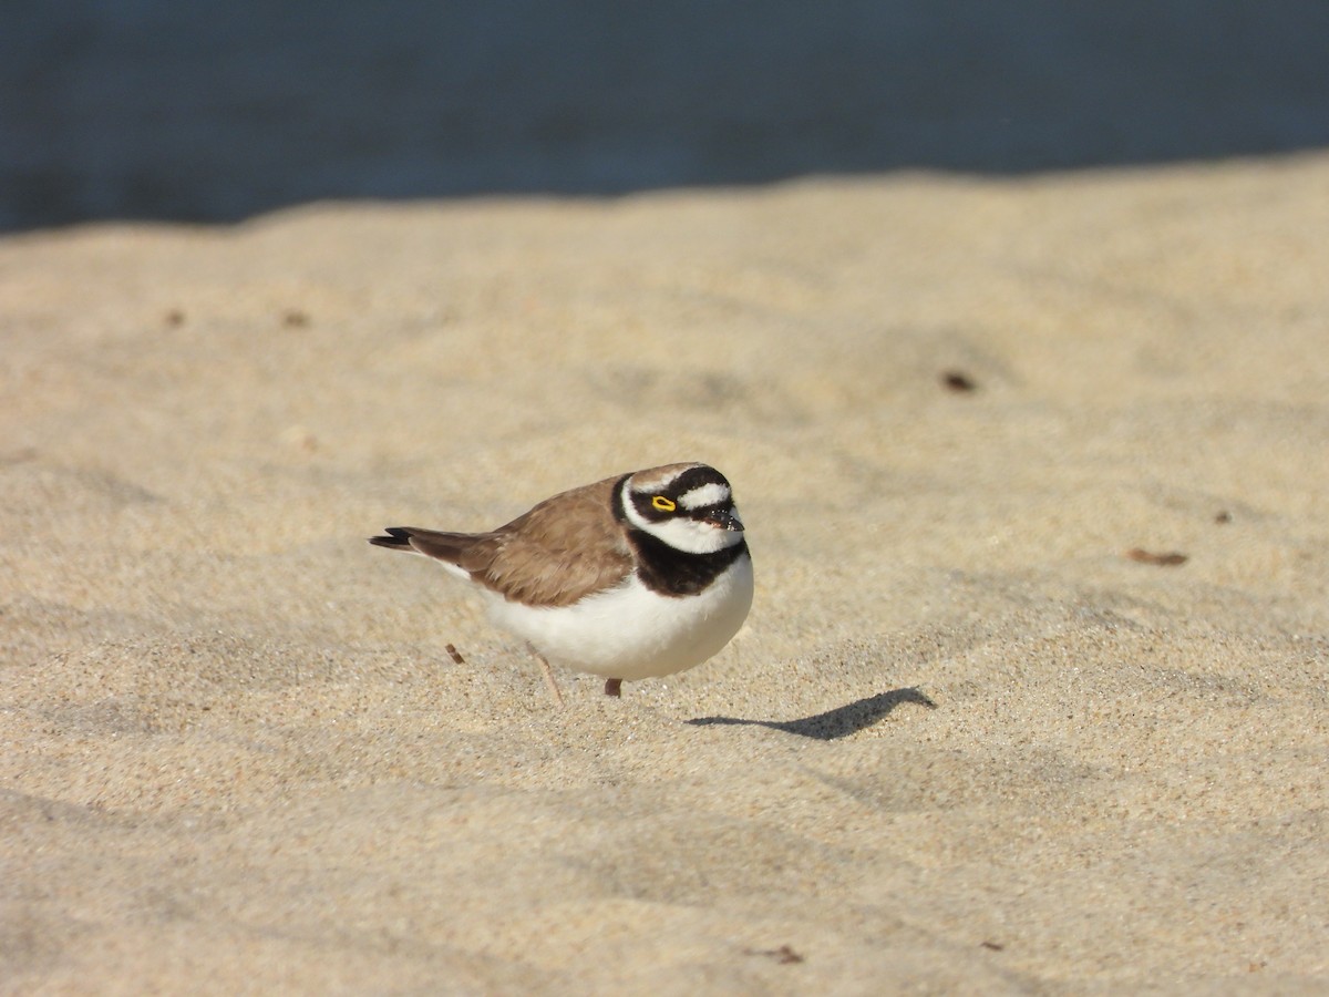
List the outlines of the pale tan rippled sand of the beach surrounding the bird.
<svg viewBox="0 0 1329 997">
<path fill-rule="evenodd" d="M 1322 154 L 0 239 L 0 990 L 1324 992 L 1326 274 Z M 691 459 L 622 701 L 364 542 Z"/>
</svg>

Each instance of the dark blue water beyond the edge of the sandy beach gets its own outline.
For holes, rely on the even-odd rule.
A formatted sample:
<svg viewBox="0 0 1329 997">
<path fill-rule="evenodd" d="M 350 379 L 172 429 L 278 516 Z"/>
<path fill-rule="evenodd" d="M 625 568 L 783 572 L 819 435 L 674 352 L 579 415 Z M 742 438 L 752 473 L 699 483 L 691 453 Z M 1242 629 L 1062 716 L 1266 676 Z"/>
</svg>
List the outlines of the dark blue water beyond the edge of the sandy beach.
<svg viewBox="0 0 1329 997">
<path fill-rule="evenodd" d="M 1326 145 L 1325 0 L 0 0 L 0 230 Z"/>
</svg>

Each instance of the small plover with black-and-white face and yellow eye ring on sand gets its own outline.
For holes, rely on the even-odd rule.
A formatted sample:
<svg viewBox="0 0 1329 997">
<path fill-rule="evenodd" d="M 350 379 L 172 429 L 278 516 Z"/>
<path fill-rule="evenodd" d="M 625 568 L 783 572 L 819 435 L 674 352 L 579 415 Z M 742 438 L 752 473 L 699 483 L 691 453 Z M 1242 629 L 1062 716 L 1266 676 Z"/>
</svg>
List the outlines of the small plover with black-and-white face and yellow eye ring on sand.
<svg viewBox="0 0 1329 997">
<path fill-rule="evenodd" d="M 695 461 L 560 492 L 497 529 L 391 526 L 369 542 L 423 554 L 469 581 L 489 618 L 550 662 L 625 681 L 712 658 L 752 605 L 752 556 L 728 479 Z"/>
</svg>

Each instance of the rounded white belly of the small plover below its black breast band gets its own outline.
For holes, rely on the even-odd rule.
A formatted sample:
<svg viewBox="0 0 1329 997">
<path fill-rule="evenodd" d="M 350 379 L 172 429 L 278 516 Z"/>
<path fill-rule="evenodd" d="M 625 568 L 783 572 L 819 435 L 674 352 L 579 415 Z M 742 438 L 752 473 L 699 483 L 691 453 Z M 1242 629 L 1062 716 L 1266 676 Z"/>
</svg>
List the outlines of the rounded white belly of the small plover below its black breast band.
<svg viewBox="0 0 1329 997">
<path fill-rule="evenodd" d="M 698 596 L 661 596 L 637 576 L 574 606 L 532 609 L 493 596 L 489 614 L 550 662 L 606 678 L 651 678 L 700 665 L 739 631 L 752 605 L 743 554 Z"/>
</svg>

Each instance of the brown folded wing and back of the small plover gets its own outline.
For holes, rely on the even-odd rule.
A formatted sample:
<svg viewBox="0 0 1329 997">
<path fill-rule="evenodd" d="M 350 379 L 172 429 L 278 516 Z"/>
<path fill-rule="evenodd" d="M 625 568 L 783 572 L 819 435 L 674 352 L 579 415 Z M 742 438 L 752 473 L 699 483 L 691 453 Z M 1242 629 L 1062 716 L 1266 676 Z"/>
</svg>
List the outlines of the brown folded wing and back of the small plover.
<svg viewBox="0 0 1329 997">
<path fill-rule="evenodd" d="M 567 606 L 617 585 L 633 556 L 614 520 L 621 477 L 546 498 L 476 542 L 456 564 L 481 585 L 533 606 Z"/>
</svg>

